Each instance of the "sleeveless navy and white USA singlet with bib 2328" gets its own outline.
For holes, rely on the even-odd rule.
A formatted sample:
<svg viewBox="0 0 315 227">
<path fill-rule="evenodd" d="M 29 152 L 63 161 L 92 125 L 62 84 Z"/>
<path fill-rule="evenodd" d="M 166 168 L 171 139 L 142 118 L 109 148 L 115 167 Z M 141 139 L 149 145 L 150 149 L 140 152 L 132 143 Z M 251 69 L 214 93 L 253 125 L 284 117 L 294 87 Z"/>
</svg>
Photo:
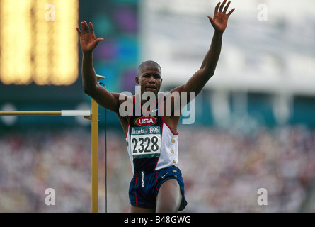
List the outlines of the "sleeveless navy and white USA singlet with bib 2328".
<svg viewBox="0 0 315 227">
<path fill-rule="evenodd" d="M 163 97 L 163 94 L 159 95 L 159 99 Z M 176 165 L 178 133 L 171 131 L 164 121 L 163 113 L 159 112 L 161 111 L 159 104 L 163 102 L 156 101 L 150 112 L 143 110 L 140 103 L 140 97 L 136 95 L 126 134 L 132 172 L 155 171 Z M 136 111 L 136 108 L 140 111 Z"/>
</svg>

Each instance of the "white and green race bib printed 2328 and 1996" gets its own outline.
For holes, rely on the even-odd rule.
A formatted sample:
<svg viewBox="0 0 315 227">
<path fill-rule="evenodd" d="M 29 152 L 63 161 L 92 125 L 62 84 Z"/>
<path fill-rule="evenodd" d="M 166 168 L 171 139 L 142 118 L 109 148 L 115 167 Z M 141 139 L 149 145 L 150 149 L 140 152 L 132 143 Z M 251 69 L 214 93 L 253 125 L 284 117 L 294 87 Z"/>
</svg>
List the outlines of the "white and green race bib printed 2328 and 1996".
<svg viewBox="0 0 315 227">
<path fill-rule="evenodd" d="M 133 158 L 160 157 L 160 126 L 132 127 L 130 135 Z"/>
</svg>

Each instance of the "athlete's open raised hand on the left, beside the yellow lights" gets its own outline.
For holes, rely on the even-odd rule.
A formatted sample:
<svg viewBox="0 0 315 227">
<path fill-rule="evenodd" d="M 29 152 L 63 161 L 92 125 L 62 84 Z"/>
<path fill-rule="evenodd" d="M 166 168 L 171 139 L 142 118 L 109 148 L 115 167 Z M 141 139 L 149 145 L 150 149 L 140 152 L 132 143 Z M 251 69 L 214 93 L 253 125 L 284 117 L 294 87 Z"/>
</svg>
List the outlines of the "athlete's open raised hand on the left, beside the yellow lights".
<svg viewBox="0 0 315 227">
<path fill-rule="evenodd" d="M 96 45 L 98 45 L 98 42 L 101 40 L 104 40 L 103 38 L 96 38 L 94 34 L 94 28 L 93 24 L 90 22 L 88 28 L 88 24 L 86 21 L 81 22 L 82 31 L 79 28 L 76 28 L 76 31 L 78 31 L 80 36 L 80 45 L 81 50 L 83 52 L 91 52 L 96 48 Z"/>
</svg>

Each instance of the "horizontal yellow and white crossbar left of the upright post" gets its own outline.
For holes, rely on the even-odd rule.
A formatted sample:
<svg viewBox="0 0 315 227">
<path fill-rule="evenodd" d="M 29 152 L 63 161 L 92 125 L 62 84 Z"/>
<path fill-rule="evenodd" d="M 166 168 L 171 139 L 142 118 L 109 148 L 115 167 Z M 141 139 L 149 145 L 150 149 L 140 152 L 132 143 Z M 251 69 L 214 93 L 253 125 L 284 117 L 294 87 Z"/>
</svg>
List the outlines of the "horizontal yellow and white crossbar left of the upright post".
<svg viewBox="0 0 315 227">
<path fill-rule="evenodd" d="M 0 111 L 0 116 L 91 116 L 91 111 Z"/>
</svg>

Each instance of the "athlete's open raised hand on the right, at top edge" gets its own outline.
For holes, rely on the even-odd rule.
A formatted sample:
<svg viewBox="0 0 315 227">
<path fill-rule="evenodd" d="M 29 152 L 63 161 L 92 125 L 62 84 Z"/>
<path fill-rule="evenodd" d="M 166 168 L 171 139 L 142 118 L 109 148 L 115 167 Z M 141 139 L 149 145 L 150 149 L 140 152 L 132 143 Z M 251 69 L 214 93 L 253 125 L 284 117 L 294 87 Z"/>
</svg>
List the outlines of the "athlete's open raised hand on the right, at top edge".
<svg viewBox="0 0 315 227">
<path fill-rule="evenodd" d="M 219 2 L 215 7 L 214 17 L 212 18 L 211 16 L 208 16 L 213 28 L 216 31 L 225 31 L 225 28 L 227 28 L 227 21 L 229 19 L 229 16 L 235 10 L 235 8 L 233 8 L 231 9 L 231 11 L 229 11 L 229 13 L 227 13 L 227 9 L 229 8 L 229 4 L 231 4 L 231 1 L 227 3 L 227 6 L 225 6 L 226 3 L 227 0 L 224 0 L 222 4 L 221 2 Z"/>
</svg>

